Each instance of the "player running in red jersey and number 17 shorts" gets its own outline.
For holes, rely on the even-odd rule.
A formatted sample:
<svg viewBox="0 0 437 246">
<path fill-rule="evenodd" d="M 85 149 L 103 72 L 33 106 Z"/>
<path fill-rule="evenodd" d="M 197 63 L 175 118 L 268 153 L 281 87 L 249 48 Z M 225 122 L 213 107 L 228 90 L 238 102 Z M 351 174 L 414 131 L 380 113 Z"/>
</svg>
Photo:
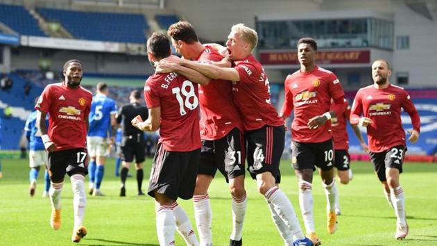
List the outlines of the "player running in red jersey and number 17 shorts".
<svg viewBox="0 0 437 246">
<path fill-rule="evenodd" d="M 87 129 L 92 93 L 80 86 L 83 69 L 79 60 L 68 60 L 63 67 L 65 80 L 47 85 L 35 108 L 37 127 L 42 142 L 49 152 L 49 175 L 51 188 L 50 225 L 58 230 L 61 225 L 61 192 L 65 174 L 68 174 L 73 189 L 74 227 L 71 240 L 78 243 L 87 235 L 83 215 L 87 204 L 85 176 L 88 173 Z M 49 113 L 49 130 L 46 115 Z"/>
</svg>

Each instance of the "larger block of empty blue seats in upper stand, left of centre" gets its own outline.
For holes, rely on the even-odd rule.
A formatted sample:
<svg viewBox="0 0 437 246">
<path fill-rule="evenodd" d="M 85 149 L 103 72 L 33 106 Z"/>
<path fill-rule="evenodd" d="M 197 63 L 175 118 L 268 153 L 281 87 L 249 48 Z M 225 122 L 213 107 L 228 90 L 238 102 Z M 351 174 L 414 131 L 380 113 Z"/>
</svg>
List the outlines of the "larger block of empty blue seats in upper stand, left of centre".
<svg viewBox="0 0 437 246">
<path fill-rule="evenodd" d="M 74 38 L 108 42 L 146 42 L 149 27 L 144 15 L 94 13 L 37 8 L 48 22 L 59 22 Z"/>
</svg>

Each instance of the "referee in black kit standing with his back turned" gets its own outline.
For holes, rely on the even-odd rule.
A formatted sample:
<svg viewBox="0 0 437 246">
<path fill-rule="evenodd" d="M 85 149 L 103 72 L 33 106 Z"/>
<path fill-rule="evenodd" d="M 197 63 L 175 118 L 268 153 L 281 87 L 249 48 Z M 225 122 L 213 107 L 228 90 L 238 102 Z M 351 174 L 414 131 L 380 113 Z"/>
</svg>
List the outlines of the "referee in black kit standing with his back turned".
<svg viewBox="0 0 437 246">
<path fill-rule="evenodd" d="M 135 169 L 137 170 L 137 185 L 138 195 L 144 195 L 142 191 L 143 183 L 143 162 L 145 158 L 144 149 L 146 142 L 144 140 L 144 133 L 136 129 L 130 121 L 137 115 L 141 115 L 143 119 L 148 118 L 148 109 L 146 106 L 140 104 L 141 93 L 139 90 L 133 90 L 129 96 L 130 104 L 122 106 L 117 115 L 117 123 L 123 122 L 123 136 L 121 138 L 121 153 L 123 160 L 123 167 L 121 168 L 121 188 L 120 197 L 126 197 L 126 178 L 128 177 L 130 163 L 132 163 L 135 156 Z"/>
</svg>

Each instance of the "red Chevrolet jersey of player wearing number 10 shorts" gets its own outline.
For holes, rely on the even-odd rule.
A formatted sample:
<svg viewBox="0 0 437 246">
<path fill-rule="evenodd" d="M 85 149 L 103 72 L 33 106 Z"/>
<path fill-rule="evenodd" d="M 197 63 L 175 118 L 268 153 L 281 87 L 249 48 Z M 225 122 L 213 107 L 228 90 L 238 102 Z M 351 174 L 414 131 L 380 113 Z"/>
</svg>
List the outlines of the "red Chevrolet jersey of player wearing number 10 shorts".
<svg viewBox="0 0 437 246">
<path fill-rule="evenodd" d="M 316 129 L 309 129 L 309 119 L 329 111 L 331 98 L 343 108 L 345 92 L 337 76 L 331 71 L 316 66 L 311 72 L 296 71 L 286 77 L 285 99 L 282 115 L 290 115 L 292 138 L 296 142 L 325 142 L 332 138 L 331 123 L 327 121 Z M 339 112 L 342 112 L 339 109 Z"/>
</svg>

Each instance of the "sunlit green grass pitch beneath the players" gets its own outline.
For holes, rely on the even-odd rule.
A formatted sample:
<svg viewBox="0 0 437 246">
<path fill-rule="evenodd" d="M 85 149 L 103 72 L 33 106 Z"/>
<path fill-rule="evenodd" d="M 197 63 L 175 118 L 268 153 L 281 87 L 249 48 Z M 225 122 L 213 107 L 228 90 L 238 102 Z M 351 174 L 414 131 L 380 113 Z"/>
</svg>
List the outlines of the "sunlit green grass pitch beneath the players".
<svg viewBox="0 0 437 246">
<path fill-rule="evenodd" d="M 62 227 L 49 226 L 51 206 L 41 197 L 44 187 L 42 172 L 35 197 L 28 195 L 28 163 L 26 160 L 3 159 L 0 179 L 0 245 L 73 245 L 72 192 L 69 179 L 62 190 Z M 290 161 L 282 161 L 280 187 L 291 200 L 301 221 L 298 186 Z M 147 187 L 151 160 L 145 165 L 144 189 Z M 406 240 L 394 239 L 395 214 L 388 206 L 382 187 L 367 162 L 352 163 L 354 179 L 339 185 L 342 215 L 339 230 L 326 231 L 326 200 L 318 174 L 314 177 L 314 216 L 316 230 L 323 245 L 437 245 L 437 165 L 406 163 L 401 183 L 406 195 L 410 233 Z M 133 170 L 133 169 L 132 169 Z M 134 174 L 135 176 L 135 174 Z M 85 184 L 87 187 L 87 183 Z M 283 245 L 270 212 L 255 181 L 246 176 L 248 210 L 243 227 L 243 243 L 248 246 Z M 108 160 L 101 186 L 105 197 L 87 197 L 85 227 L 88 235 L 80 245 L 158 245 L 155 233 L 155 206 L 151 197 L 136 195 L 135 177 L 128 178 L 127 197 L 118 197 L 119 179 L 114 177 L 114 160 Z M 228 245 L 231 231 L 230 195 L 221 174 L 217 174 L 209 190 L 212 201 L 214 245 Z M 194 225 L 192 201 L 178 201 Z M 185 245 L 176 236 L 176 245 Z"/>
</svg>

